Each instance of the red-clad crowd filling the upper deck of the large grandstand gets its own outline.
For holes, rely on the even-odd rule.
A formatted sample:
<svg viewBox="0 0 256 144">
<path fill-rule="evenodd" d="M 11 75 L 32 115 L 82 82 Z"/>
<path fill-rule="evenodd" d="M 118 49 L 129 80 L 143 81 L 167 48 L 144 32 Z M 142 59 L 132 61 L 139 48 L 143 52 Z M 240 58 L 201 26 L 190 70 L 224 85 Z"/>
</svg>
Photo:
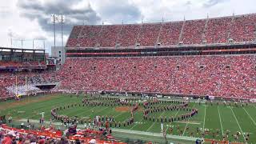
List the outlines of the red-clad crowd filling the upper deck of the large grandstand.
<svg viewBox="0 0 256 144">
<path fill-rule="evenodd" d="M 226 43 L 231 38 L 234 42 L 254 42 L 256 14 L 246 14 L 184 22 L 164 22 L 154 24 L 112 25 L 112 26 L 74 26 L 67 42 L 67 47 L 114 47 L 162 46 Z M 184 24 L 184 25 L 183 25 Z M 183 27 L 183 28 L 182 28 Z M 159 39 L 158 39 L 159 36 Z"/>
</svg>

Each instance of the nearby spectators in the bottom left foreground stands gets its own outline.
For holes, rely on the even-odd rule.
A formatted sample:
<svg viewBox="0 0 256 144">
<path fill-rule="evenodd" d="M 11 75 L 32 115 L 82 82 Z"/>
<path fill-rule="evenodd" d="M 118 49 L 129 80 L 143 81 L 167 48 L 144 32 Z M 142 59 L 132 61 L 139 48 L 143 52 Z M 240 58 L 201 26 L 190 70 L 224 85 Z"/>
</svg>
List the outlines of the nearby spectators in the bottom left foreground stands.
<svg viewBox="0 0 256 144">
<path fill-rule="evenodd" d="M 68 130 L 65 130 L 66 133 Z M 104 129 L 99 130 L 78 130 L 75 135 L 62 135 L 62 131 L 55 130 L 54 127 L 45 128 L 42 126 L 39 130 L 24 130 L 11 128 L 6 125 L 0 125 L 0 143 L 2 144 L 80 144 L 80 143 L 122 143 L 116 142 L 111 134 L 107 134 Z"/>
</svg>

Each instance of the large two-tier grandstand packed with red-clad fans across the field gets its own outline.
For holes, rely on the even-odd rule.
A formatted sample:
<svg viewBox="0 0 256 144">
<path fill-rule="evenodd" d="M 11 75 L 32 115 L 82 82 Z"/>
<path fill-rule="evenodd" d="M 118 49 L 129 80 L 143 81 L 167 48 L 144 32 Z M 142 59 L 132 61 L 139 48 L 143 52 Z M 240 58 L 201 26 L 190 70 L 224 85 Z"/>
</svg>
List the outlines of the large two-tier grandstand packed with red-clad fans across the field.
<svg viewBox="0 0 256 144">
<path fill-rule="evenodd" d="M 62 90 L 255 98 L 256 14 L 74 26 Z"/>
</svg>

